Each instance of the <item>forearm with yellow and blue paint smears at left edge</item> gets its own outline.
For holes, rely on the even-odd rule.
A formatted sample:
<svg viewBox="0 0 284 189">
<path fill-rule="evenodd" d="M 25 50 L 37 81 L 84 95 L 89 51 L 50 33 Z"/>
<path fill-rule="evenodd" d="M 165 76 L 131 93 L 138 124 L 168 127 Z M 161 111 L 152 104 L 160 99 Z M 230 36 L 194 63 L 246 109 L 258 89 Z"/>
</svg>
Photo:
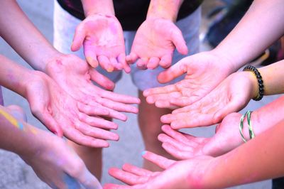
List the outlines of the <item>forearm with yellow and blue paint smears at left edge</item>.
<svg viewBox="0 0 284 189">
<path fill-rule="evenodd" d="M 17 121 L 6 109 L 0 106 L 0 148 L 19 155 L 35 151 L 37 129 L 24 122 Z"/>
</svg>

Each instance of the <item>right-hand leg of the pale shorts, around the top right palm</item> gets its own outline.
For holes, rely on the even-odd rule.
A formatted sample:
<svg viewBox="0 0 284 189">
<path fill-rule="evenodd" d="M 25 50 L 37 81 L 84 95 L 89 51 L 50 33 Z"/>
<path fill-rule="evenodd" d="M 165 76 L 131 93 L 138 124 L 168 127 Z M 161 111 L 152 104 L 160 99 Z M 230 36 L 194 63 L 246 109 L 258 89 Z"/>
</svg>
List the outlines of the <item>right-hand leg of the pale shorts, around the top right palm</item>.
<svg viewBox="0 0 284 189">
<path fill-rule="evenodd" d="M 187 43 L 189 53 L 187 55 L 180 55 L 177 50 L 173 54 L 172 65 L 177 63 L 180 59 L 185 58 L 188 55 L 192 55 L 199 52 L 200 41 L 199 41 L 199 29 L 201 21 L 201 9 L 198 8 L 195 12 L 190 14 L 176 23 L 178 28 L 182 31 L 182 35 Z M 184 78 L 184 75 L 176 78 L 175 80 L 168 82 L 167 84 L 160 84 L 157 80 L 158 74 L 164 69 L 161 67 L 155 70 L 139 70 L 136 67 L 131 68 L 131 75 L 133 83 L 138 87 L 139 90 L 143 91 L 148 88 L 162 87 L 165 85 L 173 84 Z"/>
</svg>

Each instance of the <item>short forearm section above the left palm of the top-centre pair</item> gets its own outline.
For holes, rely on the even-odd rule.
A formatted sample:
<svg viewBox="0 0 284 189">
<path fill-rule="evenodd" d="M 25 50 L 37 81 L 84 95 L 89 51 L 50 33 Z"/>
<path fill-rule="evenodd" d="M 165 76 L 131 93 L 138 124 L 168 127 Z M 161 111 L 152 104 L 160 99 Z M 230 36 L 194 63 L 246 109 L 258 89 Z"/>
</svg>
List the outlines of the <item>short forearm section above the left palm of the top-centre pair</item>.
<svg viewBox="0 0 284 189">
<path fill-rule="evenodd" d="M 112 0 L 82 0 L 84 15 L 102 13 L 114 15 L 114 4 Z"/>
</svg>

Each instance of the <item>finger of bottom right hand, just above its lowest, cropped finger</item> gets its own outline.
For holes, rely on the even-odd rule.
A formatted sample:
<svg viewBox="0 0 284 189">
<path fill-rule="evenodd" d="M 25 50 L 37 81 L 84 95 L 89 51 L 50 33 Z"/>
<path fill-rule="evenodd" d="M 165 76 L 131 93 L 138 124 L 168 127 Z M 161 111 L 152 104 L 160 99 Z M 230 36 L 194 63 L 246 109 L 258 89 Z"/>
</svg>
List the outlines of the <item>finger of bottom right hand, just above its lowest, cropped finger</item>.
<svg viewBox="0 0 284 189">
<path fill-rule="evenodd" d="M 145 183 L 146 181 L 148 181 L 148 177 L 134 175 L 132 173 L 122 171 L 119 168 L 110 168 L 109 175 L 111 175 L 112 177 L 118 180 L 121 180 L 122 182 L 128 185 L 136 185 L 136 184 Z"/>
</svg>

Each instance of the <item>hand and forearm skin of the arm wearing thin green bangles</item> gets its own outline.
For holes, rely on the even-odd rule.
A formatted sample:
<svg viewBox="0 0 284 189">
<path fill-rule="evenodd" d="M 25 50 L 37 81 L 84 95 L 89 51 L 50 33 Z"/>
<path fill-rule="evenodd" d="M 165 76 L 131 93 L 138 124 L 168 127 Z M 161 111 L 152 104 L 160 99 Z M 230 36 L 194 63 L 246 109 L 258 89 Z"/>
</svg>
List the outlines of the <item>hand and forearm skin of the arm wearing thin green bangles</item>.
<svg viewBox="0 0 284 189">
<path fill-rule="evenodd" d="M 275 112 L 283 111 L 284 97 L 256 109 L 251 114 L 253 132 L 258 136 L 283 119 L 281 114 Z M 175 131 L 168 125 L 162 130 L 165 134 L 158 136 L 163 143 L 165 151 L 178 159 L 187 159 L 200 155 L 220 156 L 232 149 L 244 144 L 239 134 L 239 122 L 241 114 L 231 113 L 227 115 L 216 128 L 216 134 L 211 138 L 191 136 L 180 131 Z M 249 129 L 246 118 L 244 119 L 244 137 L 249 140 Z"/>
</svg>

